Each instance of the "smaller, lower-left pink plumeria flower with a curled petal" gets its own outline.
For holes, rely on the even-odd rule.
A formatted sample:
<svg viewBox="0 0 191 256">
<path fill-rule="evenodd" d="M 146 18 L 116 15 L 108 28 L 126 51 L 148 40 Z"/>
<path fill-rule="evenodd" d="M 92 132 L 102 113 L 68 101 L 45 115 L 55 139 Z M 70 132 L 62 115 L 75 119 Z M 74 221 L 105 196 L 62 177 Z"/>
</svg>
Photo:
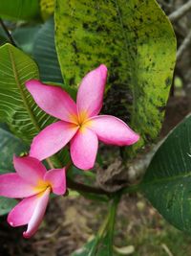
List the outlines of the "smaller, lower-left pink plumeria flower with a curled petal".
<svg viewBox="0 0 191 256">
<path fill-rule="evenodd" d="M 11 210 L 8 222 L 14 227 L 28 224 L 23 236 L 30 238 L 44 217 L 50 193 L 65 194 L 65 169 L 47 172 L 39 160 L 30 156 L 14 156 L 13 164 L 16 173 L 0 175 L 0 196 L 24 198 Z"/>
</svg>

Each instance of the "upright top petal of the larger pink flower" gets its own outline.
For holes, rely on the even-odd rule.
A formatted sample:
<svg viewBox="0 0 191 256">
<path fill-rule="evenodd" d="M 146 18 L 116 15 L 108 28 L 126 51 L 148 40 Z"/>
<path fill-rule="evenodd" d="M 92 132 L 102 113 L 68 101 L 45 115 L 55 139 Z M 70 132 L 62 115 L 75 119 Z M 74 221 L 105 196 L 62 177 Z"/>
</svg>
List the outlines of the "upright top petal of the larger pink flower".
<svg viewBox="0 0 191 256">
<path fill-rule="evenodd" d="M 87 113 L 91 117 L 99 113 L 106 81 L 107 67 L 103 64 L 84 77 L 77 92 L 76 102 L 79 114 Z"/>
</svg>

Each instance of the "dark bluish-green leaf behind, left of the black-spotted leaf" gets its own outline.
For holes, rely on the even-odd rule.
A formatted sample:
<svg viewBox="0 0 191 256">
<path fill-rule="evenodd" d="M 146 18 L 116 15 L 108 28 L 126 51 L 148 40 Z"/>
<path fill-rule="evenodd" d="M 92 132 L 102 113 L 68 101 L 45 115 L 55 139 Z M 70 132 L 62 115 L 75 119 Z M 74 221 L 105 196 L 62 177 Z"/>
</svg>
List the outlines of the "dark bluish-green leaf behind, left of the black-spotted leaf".
<svg viewBox="0 0 191 256">
<path fill-rule="evenodd" d="M 32 56 L 38 63 L 42 81 L 63 82 L 55 51 L 53 18 L 48 20 L 35 36 Z"/>
</svg>

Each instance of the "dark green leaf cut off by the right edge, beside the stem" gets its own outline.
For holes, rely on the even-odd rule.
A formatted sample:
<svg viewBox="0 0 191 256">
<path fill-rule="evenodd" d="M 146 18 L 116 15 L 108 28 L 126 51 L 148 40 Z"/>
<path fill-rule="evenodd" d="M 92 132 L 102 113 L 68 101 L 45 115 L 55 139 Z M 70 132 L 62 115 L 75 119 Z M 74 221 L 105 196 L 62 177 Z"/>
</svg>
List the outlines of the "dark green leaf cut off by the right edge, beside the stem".
<svg viewBox="0 0 191 256">
<path fill-rule="evenodd" d="M 191 233 L 191 116 L 169 133 L 141 184 L 159 213 Z"/>
</svg>

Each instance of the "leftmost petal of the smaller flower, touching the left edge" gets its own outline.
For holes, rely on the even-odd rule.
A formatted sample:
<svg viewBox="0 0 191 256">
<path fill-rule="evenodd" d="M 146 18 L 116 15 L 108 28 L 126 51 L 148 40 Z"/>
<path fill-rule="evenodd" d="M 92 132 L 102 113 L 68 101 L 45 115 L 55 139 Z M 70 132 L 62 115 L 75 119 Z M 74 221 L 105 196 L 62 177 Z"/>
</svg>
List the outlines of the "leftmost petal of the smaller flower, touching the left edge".
<svg viewBox="0 0 191 256">
<path fill-rule="evenodd" d="M 6 198 L 26 198 L 35 194 L 33 186 L 19 175 L 0 175 L 0 196 Z"/>
</svg>

